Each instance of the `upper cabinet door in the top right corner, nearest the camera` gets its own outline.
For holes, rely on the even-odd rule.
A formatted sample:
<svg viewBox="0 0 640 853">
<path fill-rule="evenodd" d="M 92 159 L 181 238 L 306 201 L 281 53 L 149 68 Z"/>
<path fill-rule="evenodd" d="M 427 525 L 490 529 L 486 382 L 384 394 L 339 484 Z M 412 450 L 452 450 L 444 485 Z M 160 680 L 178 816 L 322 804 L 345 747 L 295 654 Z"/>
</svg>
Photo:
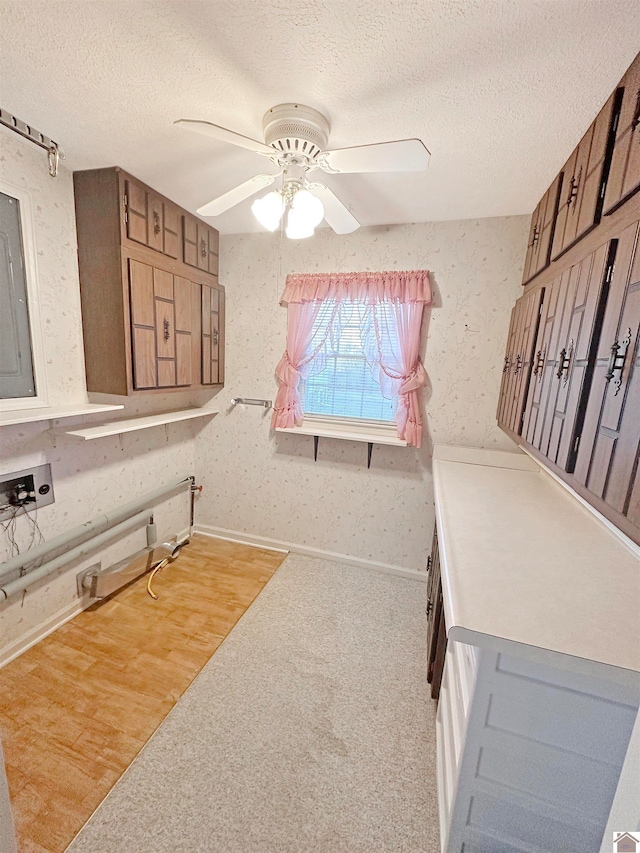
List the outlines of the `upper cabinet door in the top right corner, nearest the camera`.
<svg viewBox="0 0 640 853">
<path fill-rule="evenodd" d="M 610 214 L 640 189 L 640 54 L 620 81 L 620 112 L 604 200 Z"/>
</svg>

